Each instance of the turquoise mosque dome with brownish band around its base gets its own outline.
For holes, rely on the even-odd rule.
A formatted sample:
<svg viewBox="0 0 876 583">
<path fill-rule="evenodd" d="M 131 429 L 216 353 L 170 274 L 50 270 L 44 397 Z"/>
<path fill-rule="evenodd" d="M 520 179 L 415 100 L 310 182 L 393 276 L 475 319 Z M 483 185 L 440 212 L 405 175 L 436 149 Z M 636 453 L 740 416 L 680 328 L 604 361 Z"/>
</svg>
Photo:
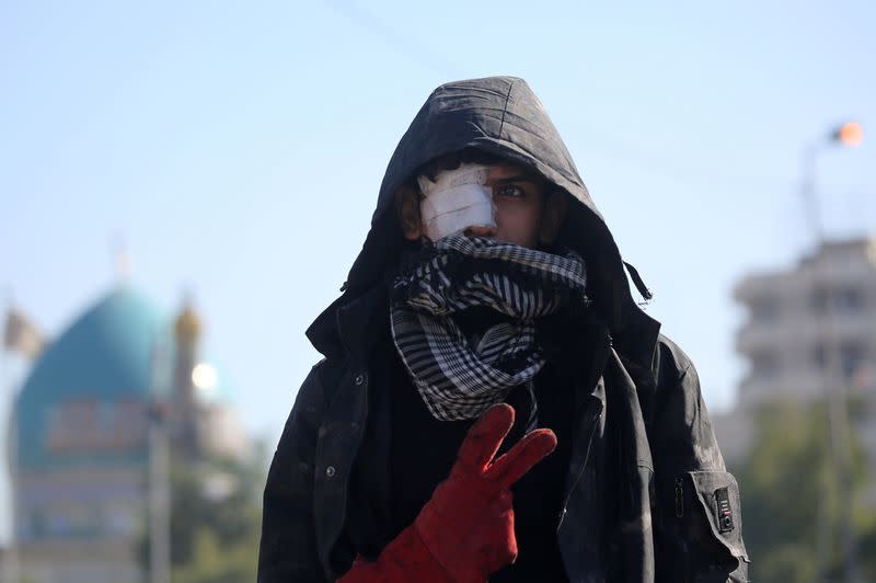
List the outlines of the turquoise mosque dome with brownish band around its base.
<svg viewBox="0 0 876 583">
<path fill-rule="evenodd" d="M 128 287 L 107 294 L 46 347 L 22 387 L 19 468 L 142 461 L 145 435 L 126 432 L 145 432 L 172 356 L 164 313 Z"/>
</svg>

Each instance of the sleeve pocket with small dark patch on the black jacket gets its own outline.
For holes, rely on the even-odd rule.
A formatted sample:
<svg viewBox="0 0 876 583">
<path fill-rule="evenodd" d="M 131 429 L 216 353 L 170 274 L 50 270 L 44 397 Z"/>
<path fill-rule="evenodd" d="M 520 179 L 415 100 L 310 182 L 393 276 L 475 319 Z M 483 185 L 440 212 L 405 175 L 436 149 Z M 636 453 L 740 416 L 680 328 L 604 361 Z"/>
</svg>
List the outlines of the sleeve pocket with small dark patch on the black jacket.
<svg viewBox="0 0 876 583">
<path fill-rule="evenodd" d="M 738 562 L 729 574 L 730 581 L 748 581 L 749 558 L 742 540 L 742 506 L 736 478 L 727 471 L 691 471 L 688 476 L 693 487 L 689 518 L 694 523 L 694 537 L 705 539 L 700 540 L 704 546 L 714 548 L 716 542 Z M 717 564 L 710 567 L 723 571 Z M 695 581 L 711 581 L 710 574 L 717 573 L 698 574 Z"/>
</svg>

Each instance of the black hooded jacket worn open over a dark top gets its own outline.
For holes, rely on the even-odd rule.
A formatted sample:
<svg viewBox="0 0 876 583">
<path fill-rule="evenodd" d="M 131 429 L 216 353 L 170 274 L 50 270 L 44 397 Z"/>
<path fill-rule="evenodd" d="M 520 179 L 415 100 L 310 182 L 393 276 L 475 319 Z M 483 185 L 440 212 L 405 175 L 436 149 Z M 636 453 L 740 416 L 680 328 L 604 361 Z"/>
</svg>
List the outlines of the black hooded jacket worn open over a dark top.
<svg viewBox="0 0 876 583">
<path fill-rule="evenodd" d="M 696 371 L 633 300 L 614 239 L 560 135 L 511 77 L 441 85 L 399 142 L 344 294 L 308 330 L 325 358 L 299 390 L 274 456 L 258 581 L 333 581 L 364 552 L 349 548 L 346 530 L 362 468 L 376 479 L 387 472 L 369 456 L 391 426 L 384 365 L 373 354 L 389 322 L 385 279 L 403 249 L 394 193 L 424 163 L 466 148 L 538 172 L 573 202 L 558 240 L 585 260 L 592 315 L 572 343 L 580 354 L 555 523 L 568 581 L 747 581 L 739 491 Z"/>
</svg>

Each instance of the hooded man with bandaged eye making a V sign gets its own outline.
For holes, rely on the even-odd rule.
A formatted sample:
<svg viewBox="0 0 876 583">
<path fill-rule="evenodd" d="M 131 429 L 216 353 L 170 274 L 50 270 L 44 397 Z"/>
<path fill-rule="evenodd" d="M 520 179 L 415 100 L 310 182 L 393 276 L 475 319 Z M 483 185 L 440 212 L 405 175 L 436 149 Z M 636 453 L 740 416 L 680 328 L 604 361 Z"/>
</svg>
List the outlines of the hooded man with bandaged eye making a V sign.
<svg viewBox="0 0 876 583">
<path fill-rule="evenodd" d="M 438 88 L 308 331 L 260 581 L 746 581 L 736 481 L 658 329 L 526 82 Z"/>
</svg>

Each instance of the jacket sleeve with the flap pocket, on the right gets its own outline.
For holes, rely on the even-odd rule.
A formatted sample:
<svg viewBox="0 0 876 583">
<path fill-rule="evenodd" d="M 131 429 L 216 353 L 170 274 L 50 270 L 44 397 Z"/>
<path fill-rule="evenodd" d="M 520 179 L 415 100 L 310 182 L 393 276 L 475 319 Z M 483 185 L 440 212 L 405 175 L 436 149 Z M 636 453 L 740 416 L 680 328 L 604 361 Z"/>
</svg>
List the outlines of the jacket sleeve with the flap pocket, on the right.
<svg viewBox="0 0 876 583">
<path fill-rule="evenodd" d="M 661 339 L 649 441 L 657 581 L 748 581 L 739 487 L 727 472 L 696 369 Z"/>
</svg>

